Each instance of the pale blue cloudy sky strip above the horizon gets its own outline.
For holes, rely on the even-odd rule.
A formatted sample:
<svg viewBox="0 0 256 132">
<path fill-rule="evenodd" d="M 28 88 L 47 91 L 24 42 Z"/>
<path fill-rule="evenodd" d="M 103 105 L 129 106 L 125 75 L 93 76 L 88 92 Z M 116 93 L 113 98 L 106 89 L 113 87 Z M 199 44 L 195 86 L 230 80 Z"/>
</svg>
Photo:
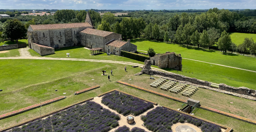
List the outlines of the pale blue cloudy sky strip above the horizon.
<svg viewBox="0 0 256 132">
<path fill-rule="evenodd" d="M 256 9 L 256 0 L 0 0 L 0 9 Z"/>
</svg>

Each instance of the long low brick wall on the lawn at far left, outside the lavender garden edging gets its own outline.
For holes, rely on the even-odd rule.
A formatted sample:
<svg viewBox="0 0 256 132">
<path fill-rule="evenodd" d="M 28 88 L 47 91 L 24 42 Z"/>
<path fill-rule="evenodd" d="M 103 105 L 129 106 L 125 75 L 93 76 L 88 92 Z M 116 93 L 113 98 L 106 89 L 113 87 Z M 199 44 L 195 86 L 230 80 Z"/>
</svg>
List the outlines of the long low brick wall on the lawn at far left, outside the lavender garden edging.
<svg viewBox="0 0 256 132">
<path fill-rule="evenodd" d="M 41 103 L 37 103 L 37 104 L 31 105 L 31 106 L 28 106 L 28 107 L 25 107 L 25 108 L 21 108 L 21 109 L 12 111 L 12 112 L 2 114 L 2 115 L 0 115 L 0 120 L 18 115 L 20 113 L 23 113 L 23 112 L 26 112 L 26 111 L 29 111 L 29 110 L 32 110 L 32 109 L 35 109 L 35 108 L 39 108 L 40 105 L 44 106 L 44 105 L 47 105 L 47 104 L 50 104 L 50 103 L 60 101 L 60 100 L 65 99 L 65 98 L 66 98 L 65 96 L 60 96 L 60 97 L 57 97 L 57 98 L 54 98 L 54 99 L 50 99 L 50 100 L 47 100 L 47 101 L 44 101 L 44 102 L 41 102 Z"/>
</svg>

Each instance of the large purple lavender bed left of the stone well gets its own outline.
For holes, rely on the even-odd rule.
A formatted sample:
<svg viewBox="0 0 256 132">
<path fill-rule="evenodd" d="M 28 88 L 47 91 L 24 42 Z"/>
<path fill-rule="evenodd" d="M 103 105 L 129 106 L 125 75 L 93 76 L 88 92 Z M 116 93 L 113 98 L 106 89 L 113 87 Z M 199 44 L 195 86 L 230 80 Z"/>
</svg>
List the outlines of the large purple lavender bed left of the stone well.
<svg viewBox="0 0 256 132">
<path fill-rule="evenodd" d="M 106 132 L 118 126 L 120 117 L 100 104 L 88 101 L 65 111 L 16 127 L 12 132 Z"/>
</svg>

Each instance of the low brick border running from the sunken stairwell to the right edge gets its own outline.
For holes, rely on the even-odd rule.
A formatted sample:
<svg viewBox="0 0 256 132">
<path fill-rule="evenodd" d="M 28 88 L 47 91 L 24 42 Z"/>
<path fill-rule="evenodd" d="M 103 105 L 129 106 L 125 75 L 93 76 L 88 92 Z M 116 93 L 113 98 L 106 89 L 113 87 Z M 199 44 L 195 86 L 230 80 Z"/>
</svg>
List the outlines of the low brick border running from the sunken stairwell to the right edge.
<svg viewBox="0 0 256 132">
<path fill-rule="evenodd" d="M 241 116 L 238 116 L 238 115 L 235 115 L 235 114 L 231 114 L 231 113 L 228 113 L 228 112 L 224 112 L 224 111 L 214 109 L 214 108 L 210 108 L 210 107 L 203 106 L 203 105 L 201 105 L 199 108 L 203 109 L 203 110 L 210 111 L 210 112 L 214 112 L 214 113 L 226 116 L 226 117 L 231 117 L 231 118 L 237 119 L 239 121 L 244 121 L 244 122 L 256 125 L 256 121 L 245 118 L 245 117 L 241 117 Z"/>
</svg>

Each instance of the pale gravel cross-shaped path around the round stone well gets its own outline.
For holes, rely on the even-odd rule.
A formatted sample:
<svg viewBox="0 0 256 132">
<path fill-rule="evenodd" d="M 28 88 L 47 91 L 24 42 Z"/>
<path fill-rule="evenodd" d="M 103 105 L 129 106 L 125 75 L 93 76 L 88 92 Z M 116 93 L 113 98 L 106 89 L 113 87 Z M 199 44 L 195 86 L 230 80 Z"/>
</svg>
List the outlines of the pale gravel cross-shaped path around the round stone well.
<svg viewBox="0 0 256 132">
<path fill-rule="evenodd" d="M 103 96 L 102 96 L 102 97 L 103 97 Z M 122 127 L 122 126 L 124 126 L 124 125 L 126 125 L 127 127 L 129 127 L 130 130 L 131 130 L 133 127 L 139 127 L 139 128 L 144 129 L 144 130 L 146 130 L 146 131 L 148 131 L 148 132 L 152 132 L 152 131 L 148 130 L 146 127 L 142 126 L 142 124 L 143 124 L 144 122 L 141 120 L 140 116 L 141 116 L 141 115 L 146 115 L 147 112 L 151 111 L 152 109 L 154 109 L 154 108 L 156 107 L 155 105 L 154 105 L 154 108 L 151 108 L 151 109 L 147 110 L 146 112 L 143 112 L 142 114 L 137 115 L 136 117 L 133 116 L 135 123 L 130 125 L 130 124 L 128 124 L 128 123 L 126 122 L 126 118 L 127 118 L 128 116 L 124 116 L 124 115 L 122 115 L 122 114 L 119 114 L 119 113 L 116 112 L 115 110 L 110 109 L 110 108 L 108 108 L 108 106 L 106 106 L 106 105 L 104 105 L 103 103 L 101 103 L 102 97 L 95 97 L 92 101 L 94 101 L 94 102 L 100 104 L 103 108 L 106 108 L 106 109 L 110 110 L 111 112 L 115 112 L 115 114 L 118 114 L 118 115 L 121 116 L 121 119 L 118 121 L 119 126 L 113 128 L 113 129 L 111 129 L 110 132 L 114 132 L 116 129 L 118 129 L 119 127 Z"/>
</svg>

